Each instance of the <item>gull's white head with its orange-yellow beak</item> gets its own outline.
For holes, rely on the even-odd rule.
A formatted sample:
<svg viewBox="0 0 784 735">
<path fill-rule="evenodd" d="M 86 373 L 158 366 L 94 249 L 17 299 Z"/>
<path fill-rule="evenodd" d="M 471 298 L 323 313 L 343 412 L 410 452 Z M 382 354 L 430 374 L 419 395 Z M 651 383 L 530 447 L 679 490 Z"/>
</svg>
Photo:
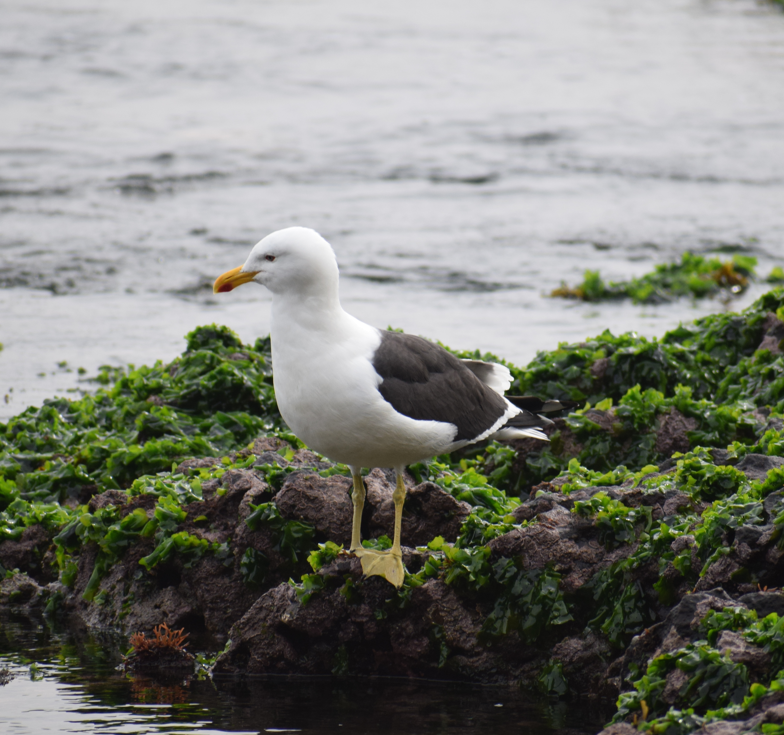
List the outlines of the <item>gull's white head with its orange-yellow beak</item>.
<svg viewBox="0 0 784 735">
<path fill-rule="evenodd" d="M 330 244 L 315 230 L 287 227 L 259 240 L 245 265 L 215 279 L 214 293 L 255 281 L 272 293 L 311 293 L 337 288 L 338 264 Z"/>
</svg>

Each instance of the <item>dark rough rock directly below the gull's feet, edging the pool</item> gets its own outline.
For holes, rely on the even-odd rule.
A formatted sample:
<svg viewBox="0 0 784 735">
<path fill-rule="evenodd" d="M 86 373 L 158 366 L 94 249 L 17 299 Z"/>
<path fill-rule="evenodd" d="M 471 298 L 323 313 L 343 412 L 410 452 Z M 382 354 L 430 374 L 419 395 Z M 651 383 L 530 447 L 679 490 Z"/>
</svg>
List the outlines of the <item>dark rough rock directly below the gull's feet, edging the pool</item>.
<svg viewBox="0 0 784 735">
<path fill-rule="evenodd" d="M 342 580 L 341 580 L 342 581 Z M 359 579 L 356 579 L 359 583 Z M 455 676 L 492 680 L 502 658 L 477 641 L 481 617 L 443 581 L 411 591 L 405 609 L 390 604 L 388 583 L 371 577 L 342 594 L 336 587 L 306 604 L 282 584 L 263 595 L 232 628 L 217 674 L 307 673 Z M 441 630 L 443 644 L 434 638 Z M 452 654 L 439 668 L 441 645 Z"/>
</svg>

